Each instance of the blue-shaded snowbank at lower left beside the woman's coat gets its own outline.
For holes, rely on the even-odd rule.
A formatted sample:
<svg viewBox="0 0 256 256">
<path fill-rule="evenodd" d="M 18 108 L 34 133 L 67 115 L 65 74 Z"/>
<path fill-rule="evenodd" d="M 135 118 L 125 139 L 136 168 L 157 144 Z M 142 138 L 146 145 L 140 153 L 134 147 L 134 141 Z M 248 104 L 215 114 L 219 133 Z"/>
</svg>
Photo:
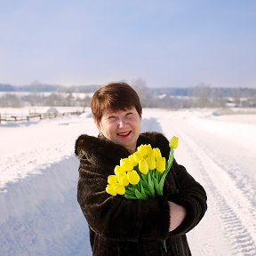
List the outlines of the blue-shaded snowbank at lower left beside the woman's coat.
<svg viewBox="0 0 256 256">
<path fill-rule="evenodd" d="M 77 165 L 70 156 L 6 185 L 0 196 L 0 255 L 91 255 L 76 202 Z"/>
</svg>

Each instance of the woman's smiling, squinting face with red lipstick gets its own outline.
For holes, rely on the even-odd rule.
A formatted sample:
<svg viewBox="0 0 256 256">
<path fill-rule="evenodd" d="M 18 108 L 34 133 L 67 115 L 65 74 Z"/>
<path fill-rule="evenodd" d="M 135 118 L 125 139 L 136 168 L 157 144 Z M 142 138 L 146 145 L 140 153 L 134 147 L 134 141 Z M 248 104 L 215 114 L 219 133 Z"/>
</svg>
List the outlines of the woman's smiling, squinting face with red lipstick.
<svg viewBox="0 0 256 256">
<path fill-rule="evenodd" d="M 124 146 L 131 153 L 136 150 L 140 135 L 140 115 L 136 108 L 103 113 L 98 129 L 108 139 Z"/>
</svg>

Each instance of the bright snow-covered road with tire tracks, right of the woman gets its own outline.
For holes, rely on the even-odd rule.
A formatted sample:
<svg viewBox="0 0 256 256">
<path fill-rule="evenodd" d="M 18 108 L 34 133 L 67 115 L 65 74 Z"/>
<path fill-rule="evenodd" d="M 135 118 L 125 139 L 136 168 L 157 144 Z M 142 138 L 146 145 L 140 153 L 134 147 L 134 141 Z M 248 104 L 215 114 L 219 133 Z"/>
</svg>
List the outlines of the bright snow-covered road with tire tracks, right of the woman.
<svg viewBox="0 0 256 256">
<path fill-rule="evenodd" d="M 192 244 L 195 245 L 193 251 L 198 251 L 196 255 L 201 252 L 216 256 L 256 253 L 256 176 L 253 172 L 256 130 L 255 125 L 244 124 L 243 120 L 239 123 L 239 116 L 233 117 L 233 122 L 223 122 L 212 113 L 188 111 L 181 115 L 173 113 L 165 122 L 159 120 L 163 128 L 166 127 L 166 134 L 173 120 L 173 133 L 180 137 L 183 146 L 177 151 L 177 160 L 188 166 L 188 171 L 204 184 L 209 196 L 209 211 L 202 226 L 188 234 L 195 241 Z M 200 228 L 204 228 L 204 236 L 197 237 Z M 214 244 L 209 243 L 209 236 Z M 202 240 L 205 246 L 201 247 L 198 241 Z M 223 245 L 217 246 L 219 243 Z"/>
</svg>

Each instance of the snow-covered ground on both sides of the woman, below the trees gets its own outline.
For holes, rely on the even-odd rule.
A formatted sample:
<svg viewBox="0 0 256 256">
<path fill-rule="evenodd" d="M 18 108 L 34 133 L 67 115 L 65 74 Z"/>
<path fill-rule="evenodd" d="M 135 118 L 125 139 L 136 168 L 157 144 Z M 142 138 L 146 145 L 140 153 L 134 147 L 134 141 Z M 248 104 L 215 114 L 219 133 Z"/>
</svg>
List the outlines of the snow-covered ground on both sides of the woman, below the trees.
<svg viewBox="0 0 256 256">
<path fill-rule="evenodd" d="M 255 256 L 256 115 L 146 108 L 141 128 L 178 136 L 178 163 L 206 189 L 209 209 L 188 233 L 193 256 Z M 82 133 L 97 135 L 89 111 L 0 124 L 1 256 L 91 255 L 76 202 L 74 144 Z"/>
</svg>

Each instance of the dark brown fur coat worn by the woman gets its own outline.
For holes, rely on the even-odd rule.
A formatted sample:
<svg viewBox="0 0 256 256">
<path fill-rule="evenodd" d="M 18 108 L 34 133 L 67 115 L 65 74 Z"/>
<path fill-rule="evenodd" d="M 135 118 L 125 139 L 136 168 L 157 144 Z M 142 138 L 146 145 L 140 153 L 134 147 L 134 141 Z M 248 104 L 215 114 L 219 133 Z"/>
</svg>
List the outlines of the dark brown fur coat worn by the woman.
<svg viewBox="0 0 256 256">
<path fill-rule="evenodd" d="M 169 141 L 161 133 L 141 133 L 137 146 L 141 144 L 160 148 L 168 159 Z M 172 164 L 164 182 L 164 196 L 127 200 L 105 191 L 108 175 L 114 173 L 121 158 L 130 155 L 124 147 L 105 138 L 81 135 L 75 153 L 80 160 L 77 200 L 89 224 L 92 255 L 191 255 L 185 233 L 203 218 L 206 194 L 182 165 L 176 161 Z M 168 232 L 168 200 L 187 210 L 186 219 L 172 232 Z"/>
</svg>

